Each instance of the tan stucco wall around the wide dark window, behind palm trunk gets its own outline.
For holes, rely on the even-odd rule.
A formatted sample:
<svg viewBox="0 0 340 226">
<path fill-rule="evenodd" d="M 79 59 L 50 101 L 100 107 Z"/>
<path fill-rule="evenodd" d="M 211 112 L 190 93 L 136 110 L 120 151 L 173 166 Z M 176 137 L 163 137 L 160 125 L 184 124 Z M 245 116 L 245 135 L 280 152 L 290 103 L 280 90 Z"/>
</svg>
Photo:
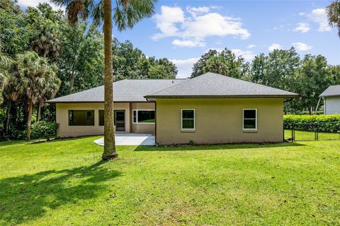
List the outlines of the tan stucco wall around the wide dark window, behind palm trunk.
<svg viewBox="0 0 340 226">
<path fill-rule="evenodd" d="M 114 109 L 125 110 L 125 133 L 130 133 L 130 104 L 114 103 Z M 101 135 L 104 133 L 104 126 L 99 126 L 98 111 L 104 109 L 103 103 L 57 103 L 56 121 L 59 124 L 57 136 L 75 137 Z M 94 126 L 69 126 L 69 110 L 94 110 Z M 122 132 L 120 132 L 122 133 Z"/>
</svg>

